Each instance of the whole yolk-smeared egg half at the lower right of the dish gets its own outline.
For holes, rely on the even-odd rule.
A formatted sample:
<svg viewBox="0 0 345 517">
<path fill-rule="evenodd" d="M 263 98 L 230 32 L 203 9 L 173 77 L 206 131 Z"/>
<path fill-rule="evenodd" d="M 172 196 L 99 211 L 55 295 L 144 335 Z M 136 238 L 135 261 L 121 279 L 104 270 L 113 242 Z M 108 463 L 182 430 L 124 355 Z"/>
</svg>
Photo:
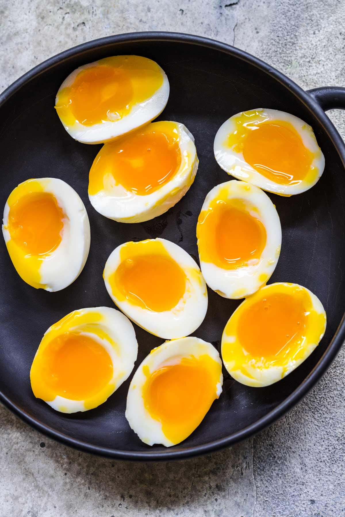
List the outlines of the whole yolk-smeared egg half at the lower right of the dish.
<svg viewBox="0 0 345 517">
<path fill-rule="evenodd" d="M 306 287 L 266 285 L 241 303 L 224 328 L 224 366 L 242 384 L 268 386 L 297 368 L 325 329 L 325 310 Z"/>
</svg>

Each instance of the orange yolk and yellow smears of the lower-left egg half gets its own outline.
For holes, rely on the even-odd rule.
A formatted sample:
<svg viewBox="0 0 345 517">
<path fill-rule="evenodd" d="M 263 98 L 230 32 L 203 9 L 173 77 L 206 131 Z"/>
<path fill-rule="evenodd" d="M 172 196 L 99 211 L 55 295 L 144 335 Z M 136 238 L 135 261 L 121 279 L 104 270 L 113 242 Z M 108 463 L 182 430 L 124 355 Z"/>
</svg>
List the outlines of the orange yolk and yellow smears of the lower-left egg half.
<svg viewBox="0 0 345 517">
<path fill-rule="evenodd" d="M 73 311 L 44 334 L 34 358 L 30 380 L 35 397 L 53 401 L 56 396 L 83 400 L 86 409 L 97 407 L 114 390 L 112 359 L 96 339 L 108 341 L 118 353 L 118 345 L 102 326 L 98 312 Z M 116 372 L 116 377 L 122 376 Z M 59 408 L 67 412 L 64 407 Z"/>
</svg>

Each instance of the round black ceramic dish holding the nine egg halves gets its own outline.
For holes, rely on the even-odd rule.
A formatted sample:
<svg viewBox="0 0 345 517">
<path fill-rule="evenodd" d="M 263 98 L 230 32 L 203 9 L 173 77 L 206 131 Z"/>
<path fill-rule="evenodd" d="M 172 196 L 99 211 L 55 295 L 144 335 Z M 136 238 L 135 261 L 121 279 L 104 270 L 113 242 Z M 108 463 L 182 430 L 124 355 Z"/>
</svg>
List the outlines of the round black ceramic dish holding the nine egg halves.
<svg viewBox="0 0 345 517">
<path fill-rule="evenodd" d="M 182 122 L 195 137 L 200 159 L 194 184 L 164 214 L 142 224 L 121 224 L 100 216 L 87 197 L 88 170 L 100 146 L 75 142 L 54 110 L 65 77 L 85 63 L 116 54 L 139 54 L 157 61 L 170 81 L 170 98 L 160 119 Z M 28 72 L 0 97 L 0 207 L 27 178 L 53 176 L 82 197 L 91 223 L 91 250 L 72 285 L 57 293 L 35 290 L 14 270 L 5 243 L 0 247 L 2 401 L 36 429 L 74 447 L 128 459 L 173 459 L 228 446 L 263 429 L 296 404 L 318 381 L 344 339 L 345 149 L 325 109 L 345 107 L 345 89 L 312 95 L 259 60 L 215 41 L 169 33 L 138 33 L 85 43 Z M 288 377 L 266 388 L 239 384 L 224 371 L 223 393 L 199 428 L 180 445 L 148 447 L 125 419 L 130 378 L 110 399 L 86 413 L 64 415 L 36 400 L 29 369 L 42 334 L 68 312 L 82 307 L 114 307 L 102 280 L 110 252 L 122 242 L 170 239 L 197 260 L 196 223 L 206 193 L 231 179 L 217 165 L 213 141 L 229 116 L 264 107 L 287 111 L 310 124 L 326 159 L 325 172 L 311 190 L 292 196 L 270 194 L 282 226 L 281 255 L 270 282 L 308 287 L 327 312 L 327 330 L 316 351 Z M 206 318 L 194 335 L 220 350 L 224 325 L 238 301 L 212 291 Z M 340 324 L 340 327 L 338 328 Z M 338 328 L 338 330 L 337 330 Z M 162 340 L 136 327 L 136 365 Z"/>
</svg>

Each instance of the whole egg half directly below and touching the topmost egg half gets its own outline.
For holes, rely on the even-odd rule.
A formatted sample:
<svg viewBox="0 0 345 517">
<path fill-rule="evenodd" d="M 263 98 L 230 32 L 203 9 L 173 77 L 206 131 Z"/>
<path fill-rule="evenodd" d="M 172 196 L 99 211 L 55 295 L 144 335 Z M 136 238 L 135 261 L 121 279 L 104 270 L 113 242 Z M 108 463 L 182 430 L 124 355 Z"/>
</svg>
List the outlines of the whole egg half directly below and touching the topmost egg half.
<svg viewBox="0 0 345 517">
<path fill-rule="evenodd" d="M 89 173 L 90 202 L 115 221 L 153 219 L 187 192 L 198 163 L 193 136 L 183 124 L 153 122 L 103 145 Z"/>
</svg>

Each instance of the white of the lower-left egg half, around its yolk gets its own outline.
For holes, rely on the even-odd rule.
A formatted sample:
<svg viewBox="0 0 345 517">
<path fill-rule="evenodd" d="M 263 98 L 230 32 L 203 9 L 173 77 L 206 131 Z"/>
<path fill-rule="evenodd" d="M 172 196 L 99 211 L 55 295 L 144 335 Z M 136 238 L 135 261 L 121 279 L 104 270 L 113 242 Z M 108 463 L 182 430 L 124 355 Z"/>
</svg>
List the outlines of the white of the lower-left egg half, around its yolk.
<svg viewBox="0 0 345 517">
<path fill-rule="evenodd" d="M 62 326 L 62 332 L 78 332 L 83 336 L 92 338 L 106 349 L 113 364 L 113 377 L 109 381 L 109 384 L 114 385 L 112 390 L 112 393 L 114 393 L 114 391 L 116 391 L 117 388 L 126 381 L 133 370 L 134 362 L 137 359 L 138 343 L 133 325 L 124 314 L 110 307 L 91 307 L 79 309 L 73 312 L 78 312 L 82 316 L 90 314 L 87 331 L 83 331 L 86 324 L 79 324 L 78 317 L 76 317 L 74 319 L 71 318 L 68 325 L 64 324 Z M 92 314 L 94 313 L 101 315 L 100 321 L 92 320 Z M 66 318 L 71 315 L 73 315 L 73 313 L 68 314 Z M 98 327 L 102 329 L 107 334 L 110 341 L 108 339 L 101 339 L 96 333 L 90 331 L 90 327 Z M 55 334 L 56 324 L 49 327 L 49 329 L 44 333 L 43 339 L 47 336 L 49 337 L 51 332 L 54 332 Z M 111 341 L 113 341 L 114 344 Z M 40 346 L 37 349 L 35 358 L 40 353 Z M 76 364 L 76 368 L 78 368 L 78 364 Z M 106 400 L 103 400 L 101 403 Z M 85 407 L 85 402 L 87 403 L 87 400 L 71 400 L 58 395 L 54 400 L 44 402 L 47 402 L 47 404 L 53 409 L 62 413 L 76 413 L 78 411 L 84 412 L 91 409 L 89 407 Z"/>
</svg>

